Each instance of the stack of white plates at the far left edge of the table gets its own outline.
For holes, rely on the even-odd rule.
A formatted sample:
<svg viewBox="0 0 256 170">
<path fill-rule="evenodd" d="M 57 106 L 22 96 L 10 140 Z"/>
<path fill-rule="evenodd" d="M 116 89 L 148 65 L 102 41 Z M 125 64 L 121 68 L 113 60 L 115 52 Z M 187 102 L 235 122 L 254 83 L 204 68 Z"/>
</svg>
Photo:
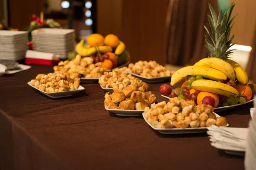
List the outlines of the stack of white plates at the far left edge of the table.
<svg viewBox="0 0 256 170">
<path fill-rule="evenodd" d="M 0 30 L 0 59 L 16 61 L 25 58 L 27 43 L 27 31 Z"/>
</svg>

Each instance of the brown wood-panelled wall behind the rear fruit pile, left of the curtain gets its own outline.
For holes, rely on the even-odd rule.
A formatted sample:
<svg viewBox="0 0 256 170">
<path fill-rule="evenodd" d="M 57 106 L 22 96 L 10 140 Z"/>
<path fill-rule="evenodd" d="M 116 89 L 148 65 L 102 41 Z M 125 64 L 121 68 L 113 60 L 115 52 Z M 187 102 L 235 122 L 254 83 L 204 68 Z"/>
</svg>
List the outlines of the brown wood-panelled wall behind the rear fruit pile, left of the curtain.
<svg viewBox="0 0 256 170">
<path fill-rule="evenodd" d="M 169 0 L 98 0 L 97 32 L 116 34 L 131 62 L 166 63 L 166 12 Z"/>
</svg>

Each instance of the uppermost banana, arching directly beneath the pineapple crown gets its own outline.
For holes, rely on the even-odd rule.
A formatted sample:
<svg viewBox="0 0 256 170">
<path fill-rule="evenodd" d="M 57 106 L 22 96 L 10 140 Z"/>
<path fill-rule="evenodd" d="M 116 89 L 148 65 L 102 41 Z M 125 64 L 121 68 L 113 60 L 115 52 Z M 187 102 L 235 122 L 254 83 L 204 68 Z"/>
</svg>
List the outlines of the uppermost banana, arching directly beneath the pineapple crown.
<svg viewBox="0 0 256 170">
<path fill-rule="evenodd" d="M 236 78 L 235 69 L 232 67 L 232 65 L 230 65 L 230 63 L 226 62 L 225 60 L 217 57 L 208 57 L 208 58 L 201 59 L 194 65 L 214 68 L 226 74 L 227 78 L 229 79 Z"/>
</svg>

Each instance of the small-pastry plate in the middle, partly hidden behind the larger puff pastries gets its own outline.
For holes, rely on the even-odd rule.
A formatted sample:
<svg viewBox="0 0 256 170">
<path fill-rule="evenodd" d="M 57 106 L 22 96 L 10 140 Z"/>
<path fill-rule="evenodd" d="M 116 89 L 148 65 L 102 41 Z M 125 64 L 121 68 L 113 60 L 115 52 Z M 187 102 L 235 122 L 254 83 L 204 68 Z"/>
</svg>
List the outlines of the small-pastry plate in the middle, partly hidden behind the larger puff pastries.
<svg viewBox="0 0 256 170">
<path fill-rule="evenodd" d="M 135 79 L 136 77 L 127 74 L 119 68 L 113 69 L 111 72 L 105 72 L 99 77 L 99 85 L 105 91 L 113 91 L 113 86 L 122 83 L 124 79 Z"/>
</svg>

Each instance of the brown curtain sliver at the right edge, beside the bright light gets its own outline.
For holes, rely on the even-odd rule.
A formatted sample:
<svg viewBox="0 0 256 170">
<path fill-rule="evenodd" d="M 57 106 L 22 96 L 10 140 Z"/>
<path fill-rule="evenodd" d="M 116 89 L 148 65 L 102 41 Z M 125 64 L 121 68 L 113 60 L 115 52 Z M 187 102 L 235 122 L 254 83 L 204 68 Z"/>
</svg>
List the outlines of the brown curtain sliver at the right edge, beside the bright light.
<svg viewBox="0 0 256 170">
<path fill-rule="evenodd" d="M 250 52 L 249 61 L 246 66 L 246 73 L 252 82 L 256 82 L 256 25 L 252 42 L 252 51 Z"/>
</svg>

